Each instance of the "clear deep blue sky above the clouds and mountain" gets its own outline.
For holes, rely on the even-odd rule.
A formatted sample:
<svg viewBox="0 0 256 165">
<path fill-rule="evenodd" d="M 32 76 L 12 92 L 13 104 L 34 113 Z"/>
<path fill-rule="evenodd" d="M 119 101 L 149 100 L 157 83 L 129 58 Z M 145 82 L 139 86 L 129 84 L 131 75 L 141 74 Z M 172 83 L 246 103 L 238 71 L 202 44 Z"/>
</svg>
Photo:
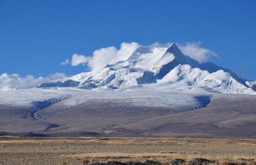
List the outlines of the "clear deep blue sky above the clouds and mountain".
<svg viewBox="0 0 256 165">
<path fill-rule="evenodd" d="M 256 0 L 0 0 L 0 74 L 73 75 L 72 54 L 122 42 L 201 41 L 256 80 Z"/>
</svg>

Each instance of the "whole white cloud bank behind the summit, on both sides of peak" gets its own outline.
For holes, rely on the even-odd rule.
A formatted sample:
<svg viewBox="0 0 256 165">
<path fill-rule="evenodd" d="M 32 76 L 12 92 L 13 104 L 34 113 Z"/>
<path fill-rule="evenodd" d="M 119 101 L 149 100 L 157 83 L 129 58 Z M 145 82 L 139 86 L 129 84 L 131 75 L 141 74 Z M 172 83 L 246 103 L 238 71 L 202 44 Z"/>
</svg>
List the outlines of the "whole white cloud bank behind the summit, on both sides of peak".
<svg viewBox="0 0 256 165">
<path fill-rule="evenodd" d="M 169 47 L 172 43 L 159 43 L 155 42 L 154 44 L 149 45 L 148 47 Z M 95 50 L 92 56 L 85 56 L 82 54 L 73 54 L 71 63 L 69 59 L 62 62 L 62 65 L 71 64 L 71 66 L 77 65 L 87 65 L 92 70 L 94 68 L 102 69 L 107 64 L 114 64 L 117 61 L 125 61 L 130 57 L 130 55 L 139 48 L 140 44 L 136 42 L 126 43 L 123 42 L 120 45 L 120 49 L 117 49 L 114 46 L 100 48 Z M 219 58 L 219 56 L 207 48 L 201 47 L 201 42 L 186 42 L 185 45 L 177 44 L 180 50 L 187 56 L 199 61 L 200 63 L 208 61 L 210 57 Z"/>
</svg>

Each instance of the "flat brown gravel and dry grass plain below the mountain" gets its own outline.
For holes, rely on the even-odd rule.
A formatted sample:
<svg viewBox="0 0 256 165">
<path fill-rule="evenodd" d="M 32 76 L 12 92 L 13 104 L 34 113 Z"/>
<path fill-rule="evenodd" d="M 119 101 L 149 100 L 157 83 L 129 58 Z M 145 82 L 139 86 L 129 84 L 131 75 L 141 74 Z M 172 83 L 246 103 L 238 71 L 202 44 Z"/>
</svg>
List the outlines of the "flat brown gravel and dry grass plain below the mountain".
<svg viewBox="0 0 256 165">
<path fill-rule="evenodd" d="M 202 157 L 219 164 L 256 159 L 256 140 L 188 138 L 22 138 L 0 136 L 0 164 L 82 164 L 106 160 L 165 162 Z M 221 163 L 222 162 L 222 163 Z M 244 162 L 241 162 L 244 163 Z M 254 161 L 247 162 L 250 165 Z"/>
</svg>

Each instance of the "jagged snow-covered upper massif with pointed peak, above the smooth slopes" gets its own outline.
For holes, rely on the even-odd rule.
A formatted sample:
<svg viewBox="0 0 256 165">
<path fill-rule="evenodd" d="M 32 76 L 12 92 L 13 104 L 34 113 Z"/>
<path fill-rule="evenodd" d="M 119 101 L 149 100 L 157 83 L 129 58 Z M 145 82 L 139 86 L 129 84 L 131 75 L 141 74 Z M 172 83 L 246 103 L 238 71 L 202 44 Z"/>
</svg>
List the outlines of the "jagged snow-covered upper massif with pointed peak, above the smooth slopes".
<svg viewBox="0 0 256 165">
<path fill-rule="evenodd" d="M 178 91 L 211 91 L 256 94 L 256 81 L 248 81 L 211 62 L 200 64 L 184 55 L 175 43 L 170 47 L 144 47 L 135 50 L 125 61 L 80 73 L 65 82 L 44 83 L 45 87 L 153 88 Z"/>
</svg>

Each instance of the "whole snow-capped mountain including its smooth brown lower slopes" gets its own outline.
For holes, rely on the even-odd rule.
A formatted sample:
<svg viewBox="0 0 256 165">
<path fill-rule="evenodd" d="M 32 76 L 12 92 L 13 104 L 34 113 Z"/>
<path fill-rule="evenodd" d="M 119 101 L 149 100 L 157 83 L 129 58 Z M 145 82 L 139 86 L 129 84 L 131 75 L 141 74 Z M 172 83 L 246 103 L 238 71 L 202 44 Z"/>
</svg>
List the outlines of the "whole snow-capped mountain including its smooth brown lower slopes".
<svg viewBox="0 0 256 165">
<path fill-rule="evenodd" d="M 256 81 L 176 44 L 35 88 L 1 92 L 0 134 L 256 138 Z"/>
</svg>

